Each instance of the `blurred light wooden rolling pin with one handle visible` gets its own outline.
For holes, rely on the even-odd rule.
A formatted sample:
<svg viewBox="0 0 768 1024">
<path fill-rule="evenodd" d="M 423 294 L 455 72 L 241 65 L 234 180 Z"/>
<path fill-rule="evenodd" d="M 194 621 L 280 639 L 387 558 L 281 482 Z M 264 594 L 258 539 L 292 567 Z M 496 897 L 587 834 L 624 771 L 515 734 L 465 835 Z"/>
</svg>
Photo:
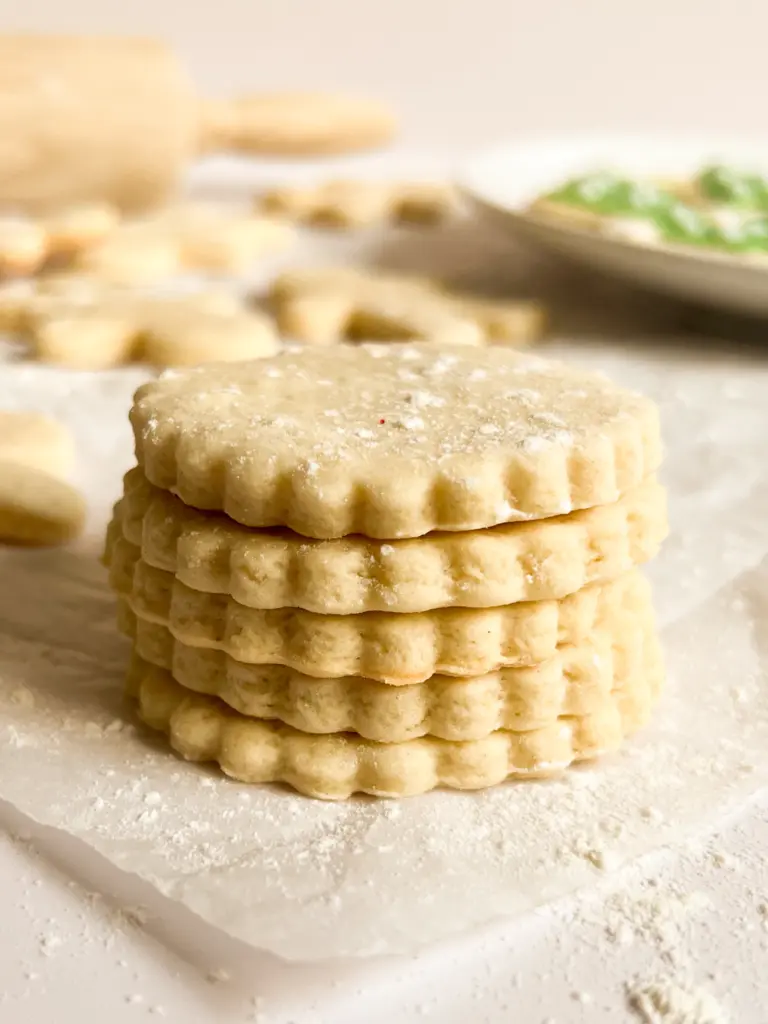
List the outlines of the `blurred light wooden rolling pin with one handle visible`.
<svg viewBox="0 0 768 1024">
<path fill-rule="evenodd" d="M 200 153 L 344 153 L 393 132 L 388 110 L 353 97 L 204 101 L 155 40 L 0 36 L 0 208 L 135 210 L 163 202 Z"/>
</svg>

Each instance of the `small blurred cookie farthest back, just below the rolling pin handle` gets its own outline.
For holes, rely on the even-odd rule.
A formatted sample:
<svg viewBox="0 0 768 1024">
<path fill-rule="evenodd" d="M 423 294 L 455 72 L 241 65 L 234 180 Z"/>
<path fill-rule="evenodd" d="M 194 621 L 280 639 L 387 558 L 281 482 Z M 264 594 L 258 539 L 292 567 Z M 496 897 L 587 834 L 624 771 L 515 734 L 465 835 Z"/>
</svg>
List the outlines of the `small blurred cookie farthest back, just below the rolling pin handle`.
<svg viewBox="0 0 768 1024">
<path fill-rule="evenodd" d="M 270 188 L 257 200 L 265 213 L 313 227 L 356 228 L 382 222 L 436 224 L 459 209 L 456 189 L 436 181 L 326 181 Z"/>
</svg>

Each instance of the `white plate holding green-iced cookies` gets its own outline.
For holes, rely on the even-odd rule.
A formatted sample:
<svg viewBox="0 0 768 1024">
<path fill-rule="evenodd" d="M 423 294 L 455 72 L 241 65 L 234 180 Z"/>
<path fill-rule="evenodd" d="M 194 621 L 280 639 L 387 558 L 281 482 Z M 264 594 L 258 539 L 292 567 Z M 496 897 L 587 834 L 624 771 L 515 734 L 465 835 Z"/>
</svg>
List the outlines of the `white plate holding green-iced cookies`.
<svg viewBox="0 0 768 1024">
<path fill-rule="evenodd" d="M 519 239 L 676 298 L 768 315 L 768 260 L 608 238 L 535 216 L 526 207 L 566 178 L 609 169 L 637 177 L 690 177 L 722 162 L 768 171 L 768 142 L 738 138 L 587 136 L 532 139 L 476 157 L 460 186 L 476 209 Z"/>
</svg>

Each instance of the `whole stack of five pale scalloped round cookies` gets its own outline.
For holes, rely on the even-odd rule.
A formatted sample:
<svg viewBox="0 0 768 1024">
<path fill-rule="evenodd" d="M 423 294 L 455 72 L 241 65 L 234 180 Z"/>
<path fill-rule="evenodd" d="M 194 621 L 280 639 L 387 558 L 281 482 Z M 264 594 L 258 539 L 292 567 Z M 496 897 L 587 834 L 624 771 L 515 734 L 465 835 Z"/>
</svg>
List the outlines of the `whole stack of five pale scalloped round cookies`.
<svg viewBox="0 0 768 1024">
<path fill-rule="evenodd" d="M 106 542 L 175 751 L 343 799 L 617 748 L 663 681 L 652 402 L 501 348 L 339 346 L 136 394 Z"/>
</svg>

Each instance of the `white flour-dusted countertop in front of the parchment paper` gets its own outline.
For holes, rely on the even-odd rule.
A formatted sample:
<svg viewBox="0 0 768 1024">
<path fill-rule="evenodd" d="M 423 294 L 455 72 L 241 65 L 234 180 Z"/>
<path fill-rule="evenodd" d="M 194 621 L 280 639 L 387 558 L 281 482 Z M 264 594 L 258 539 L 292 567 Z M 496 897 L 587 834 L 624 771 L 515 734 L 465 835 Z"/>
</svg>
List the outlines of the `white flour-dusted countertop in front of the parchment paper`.
<svg viewBox="0 0 768 1024">
<path fill-rule="evenodd" d="M 715 993 L 729 1016 L 713 1024 L 766 1020 L 766 800 L 681 850 L 596 870 L 592 892 L 419 957 L 311 966 L 227 939 L 7 806 L 0 821 L 8 1024 L 629 1024 L 642 1020 L 625 1009 L 637 975 Z M 613 938 L 606 921 L 618 923 Z"/>
</svg>

